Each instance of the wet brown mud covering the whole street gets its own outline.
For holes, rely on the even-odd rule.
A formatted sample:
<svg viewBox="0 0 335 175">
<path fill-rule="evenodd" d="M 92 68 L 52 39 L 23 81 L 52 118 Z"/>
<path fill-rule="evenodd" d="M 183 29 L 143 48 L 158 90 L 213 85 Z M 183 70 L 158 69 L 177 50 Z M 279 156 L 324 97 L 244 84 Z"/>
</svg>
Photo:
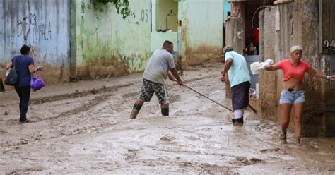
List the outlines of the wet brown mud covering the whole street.
<svg viewBox="0 0 335 175">
<path fill-rule="evenodd" d="M 188 68 L 184 83 L 230 107 L 220 64 Z M 245 112 L 245 126 L 201 95 L 167 80 L 158 100 L 129 119 L 141 74 L 44 87 L 18 123 L 18 97 L 0 92 L 0 174 L 335 174 L 335 139 L 278 140 L 280 126 Z M 274 99 L 278 100 L 278 99 Z"/>
</svg>

